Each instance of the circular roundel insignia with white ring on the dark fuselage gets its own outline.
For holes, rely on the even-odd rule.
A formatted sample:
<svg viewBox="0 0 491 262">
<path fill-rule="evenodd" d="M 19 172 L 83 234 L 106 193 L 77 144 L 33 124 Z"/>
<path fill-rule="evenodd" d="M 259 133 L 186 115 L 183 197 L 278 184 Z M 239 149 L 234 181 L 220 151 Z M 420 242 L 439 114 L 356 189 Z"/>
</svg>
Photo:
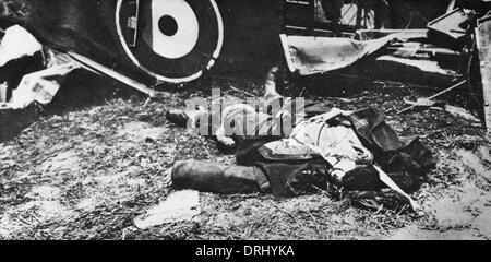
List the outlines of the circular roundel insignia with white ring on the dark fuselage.
<svg viewBox="0 0 491 262">
<path fill-rule="evenodd" d="M 224 43 L 215 0 L 118 0 L 116 27 L 131 61 L 169 83 L 200 78 Z"/>
</svg>

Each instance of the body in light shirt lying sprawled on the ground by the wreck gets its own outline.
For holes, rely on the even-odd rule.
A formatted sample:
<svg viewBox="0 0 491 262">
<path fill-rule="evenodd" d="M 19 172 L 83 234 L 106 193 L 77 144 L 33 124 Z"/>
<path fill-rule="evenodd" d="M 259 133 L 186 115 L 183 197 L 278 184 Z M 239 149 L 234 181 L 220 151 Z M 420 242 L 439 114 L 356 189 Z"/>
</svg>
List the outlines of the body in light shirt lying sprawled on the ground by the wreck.
<svg viewBox="0 0 491 262">
<path fill-rule="evenodd" d="M 237 143 L 237 165 L 178 162 L 171 170 L 172 186 L 277 196 L 322 190 L 348 196 L 354 205 L 370 210 L 402 210 L 409 206 L 408 199 L 387 189 L 379 170 L 411 193 L 432 167 L 430 151 L 417 139 L 399 139 L 384 115 L 373 108 L 351 112 L 298 103 L 279 96 L 272 80 L 266 83 L 263 102 L 266 110 L 244 104 L 226 106 L 219 127 L 211 127 L 212 110 L 169 111 L 171 121 L 188 122 L 194 129 L 206 126 L 206 130 L 215 130 L 211 135 L 219 141 L 229 144 L 228 139 L 232 139 Z M 282 109 L 275 110 L 272 105 L 278 104 Z M 177 121 L 179 117 L 181 121 Z M 227 128 L 232 132 L 224 131 Z M 223 138 L 224 133 L 230 138 Z"/>
</svg>

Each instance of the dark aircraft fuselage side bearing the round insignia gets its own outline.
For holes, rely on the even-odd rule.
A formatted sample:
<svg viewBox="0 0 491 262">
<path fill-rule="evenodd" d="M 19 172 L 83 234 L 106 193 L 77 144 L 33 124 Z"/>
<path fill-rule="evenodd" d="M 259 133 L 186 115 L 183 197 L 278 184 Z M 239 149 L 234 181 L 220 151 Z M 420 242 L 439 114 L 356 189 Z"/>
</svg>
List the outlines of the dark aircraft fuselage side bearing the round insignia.
<svg viewBox="0 0 491 262">
<path fill-rule="evenodd" d="M 252 70 L 256 68 L 252 62 L 262 61 L 268 68 L 273 63 L 268 61 L 280 58 L 283 1 L 278 0 L 19 3 L 21 14 L 0 15 L 3 27 L 20 24 L 45 46 L 74 51 L 149 85 L 190 82 L 212 68 L 230 71 L 230 64 Z"/>
</svg>

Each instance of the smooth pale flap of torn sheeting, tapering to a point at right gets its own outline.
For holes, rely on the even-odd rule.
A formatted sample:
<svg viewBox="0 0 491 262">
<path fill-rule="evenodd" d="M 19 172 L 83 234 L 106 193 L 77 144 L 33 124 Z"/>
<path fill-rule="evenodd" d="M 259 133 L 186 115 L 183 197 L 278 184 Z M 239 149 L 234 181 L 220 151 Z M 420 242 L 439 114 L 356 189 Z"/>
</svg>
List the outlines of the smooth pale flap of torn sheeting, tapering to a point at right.
<svg viewBox="0 0 491 262">
<path fill-rule="evenodd" d="M 289 70 L 311 75 L 351 66 L 397 39 L 397 34 L 364 41 L 342 37 L 287 35 L 280 35 L 280 38 Z"/>
</svg>

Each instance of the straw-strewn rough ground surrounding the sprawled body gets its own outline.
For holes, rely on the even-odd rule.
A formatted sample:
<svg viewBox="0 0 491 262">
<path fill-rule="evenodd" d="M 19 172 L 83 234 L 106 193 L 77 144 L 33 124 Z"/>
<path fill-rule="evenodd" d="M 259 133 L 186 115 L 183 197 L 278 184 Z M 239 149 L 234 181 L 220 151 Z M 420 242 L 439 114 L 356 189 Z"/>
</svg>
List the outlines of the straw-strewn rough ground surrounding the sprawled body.
<svg viewBox="0 0 491 262">
<path fill-rule="evenodd" d="M 423 215 L 362 211 L 325 192 L 295 199 L 200 193 L 201 214 L 192 221 L 136 228 L 133 219 L 172 191 L 163 174 L 175 160 L 235 162 L 213 141 L 166 121 L 166 110 L 212 87 L 261 95 L 261 82 L 207 79 L 149 103 L 98 82 L 79 84 L 91 91 L 85 97 L 74 88 L 60 94 L 37 121 L 0 144 L 0 239 L 491 238 L 491 152 L 480 124 L 435 110 L 396 116 L 404 98 L 421 94 L 372 82 L 348 98 L 301 93 L 344 109 L 374 106 L 400 135 L 421 136 L 438 163 L 414 195 Z"/>
</svg>

